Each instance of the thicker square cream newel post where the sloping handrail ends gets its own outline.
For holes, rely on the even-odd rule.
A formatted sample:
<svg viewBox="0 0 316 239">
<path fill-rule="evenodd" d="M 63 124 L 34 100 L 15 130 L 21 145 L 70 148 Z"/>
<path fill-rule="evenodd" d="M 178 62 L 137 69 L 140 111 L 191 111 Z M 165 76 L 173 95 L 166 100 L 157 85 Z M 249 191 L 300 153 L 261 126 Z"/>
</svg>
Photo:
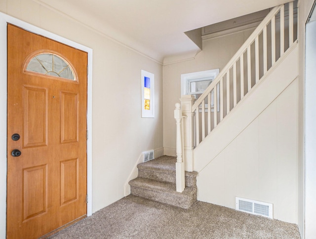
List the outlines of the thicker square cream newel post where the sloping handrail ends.
<svg viewBox="0 0 316 239">
<path fill-rule="evenodd" d="M 183 149 L 185 159 L 185 170 L 194 171 L 194 113 L 192 113 L 192 106 L 196 99 L 193 95 L 181 96 L 182 109 L 182 124 L 183 124 Z"/>
</svg>

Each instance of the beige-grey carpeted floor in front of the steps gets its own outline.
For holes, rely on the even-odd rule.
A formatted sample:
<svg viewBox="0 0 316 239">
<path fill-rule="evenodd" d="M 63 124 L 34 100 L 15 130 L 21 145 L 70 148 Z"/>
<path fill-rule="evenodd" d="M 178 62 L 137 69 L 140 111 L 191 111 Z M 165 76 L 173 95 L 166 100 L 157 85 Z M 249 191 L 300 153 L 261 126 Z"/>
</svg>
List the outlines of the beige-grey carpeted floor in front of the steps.
<svg viewBox="0 0 316 239">
<path fill-rule="evenodd" d="M 298 228 L 197 201 L 189 209 L 128 196 L 49 239 L 299 239 Z"/>
</svg>

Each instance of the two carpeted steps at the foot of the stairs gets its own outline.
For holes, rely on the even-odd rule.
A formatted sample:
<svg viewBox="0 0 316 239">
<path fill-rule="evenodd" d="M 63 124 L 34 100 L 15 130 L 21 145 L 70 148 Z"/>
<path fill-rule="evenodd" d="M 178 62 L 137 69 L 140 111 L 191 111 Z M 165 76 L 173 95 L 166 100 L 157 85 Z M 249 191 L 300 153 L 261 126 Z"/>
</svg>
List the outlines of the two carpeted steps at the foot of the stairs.
<svg viewBox="0 0 316 239">
<path fill-rule="evenodd" d="M 162 156 L 137 165 L 138 177 L 129 182 L 137 197 L 189 208 L 197 201 L 197 172 L 185 172 L 186 188 L 176 192 L 175 157 Z"/>
</svg>

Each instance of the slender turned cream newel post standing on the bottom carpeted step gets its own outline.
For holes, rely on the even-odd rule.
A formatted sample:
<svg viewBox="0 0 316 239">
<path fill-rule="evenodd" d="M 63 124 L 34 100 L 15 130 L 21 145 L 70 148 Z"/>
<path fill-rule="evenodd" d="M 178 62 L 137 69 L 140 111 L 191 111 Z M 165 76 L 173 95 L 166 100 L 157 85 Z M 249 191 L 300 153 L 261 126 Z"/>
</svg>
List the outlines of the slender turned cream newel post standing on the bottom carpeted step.
<svg viewBox="0 0 316 239">
<path fill-rule="evenodd" d="M 182 192 L 185 188 L 185 178 L 184 178 L 184 162 L 182 160 L 182 139 L 181 139 L 181 118 L 182 111 L 180 108 L 180 103 L 176 103 L 176 109 L 174 110 L 174 119 L 176 120 L 176 153 L 177 153 L 177 162 L 176 162 L 176 186 L 177 192 Z"/>
</svg>

